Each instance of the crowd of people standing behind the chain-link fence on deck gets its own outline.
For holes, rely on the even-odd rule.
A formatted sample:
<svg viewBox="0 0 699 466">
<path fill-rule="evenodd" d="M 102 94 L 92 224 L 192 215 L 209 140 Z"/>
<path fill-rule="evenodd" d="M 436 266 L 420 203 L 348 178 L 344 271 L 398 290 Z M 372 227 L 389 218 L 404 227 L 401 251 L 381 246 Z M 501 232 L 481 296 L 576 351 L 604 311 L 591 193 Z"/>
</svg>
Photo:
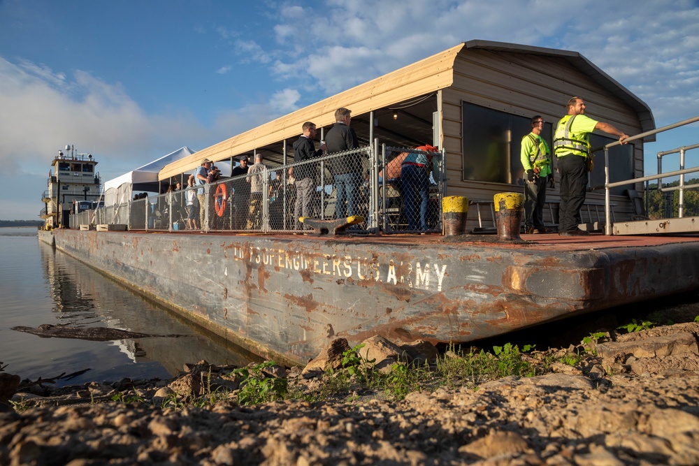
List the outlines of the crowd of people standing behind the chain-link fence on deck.
<svg viewBox="0 0 699 466">
<path fill-rule="evenodd" d="M 249 165 L 247 155 L 236 158 L 231 170 L 231 180 L 219 183 L 221 170 L 210 159 L 202 159 L 199 167 L 187 179 L 184 191 L 179 182 L 171 184 L 163 196 L 165 208 L 159 210 L 170 219 L 173 229 L 189 230 L 259 230 L 291 229 L 299 233 L 310 227 L 301 221 L 303 217 L 325 218 L 333 215 L 320 200 L 322 192 L 331 198 L 329 186 L 335 191 L 334 217 L 342 219 L 362 215 L 368 217 L 370 192 L 368 156 L 356 151 L 359 140 L 350 126 L 352 116 L 347 108 L 338 108 L 336 122 L 326 133 L 326 140 L 317 143 L 317 127 L 313 122 L 301 125 L 301 136 L 294 142 L 294 166 L 282 170 L 271 169 L 264 163 L 261 153 L 255 152 L 254 163 Z M 415 231 L 426 231 L 428 224 L 427 202 L 433 180 L 438 179 L 432 163 L 435 147 L 421 146 L 418 150 L 428 154 L 401 154 L 398 175 L 388 182 L 405 198 L 405 224 Z M 330 184 L 321 186 L 318 164 L 314 159 L 325 154 L 343 153 L 326 161 L 331 173 Z M 269 179 L 264 174 L 271 173 Z M 284 177 L 285 176 L 285 180 Z M 401 177 L 403 182 L 401 182 Z M 223 187 L 221 185 L 223 184 Z M 210 187 L 207 189 L 207 185 Z M 264 190 L 269 201 L 268 215 L 262 215 Z M 161 202 L 161 201 L 159 201 Z M 172 216 L 170 216 L 172 213 Z M 266 223 L 263 224 L 262 222 Z M 205 228 L 208 227 L 208 228 Z M 149 228 L 152 224 L 149 222 Z M 356 227 L 355 227 L 356 228 Z"/>
</svg>

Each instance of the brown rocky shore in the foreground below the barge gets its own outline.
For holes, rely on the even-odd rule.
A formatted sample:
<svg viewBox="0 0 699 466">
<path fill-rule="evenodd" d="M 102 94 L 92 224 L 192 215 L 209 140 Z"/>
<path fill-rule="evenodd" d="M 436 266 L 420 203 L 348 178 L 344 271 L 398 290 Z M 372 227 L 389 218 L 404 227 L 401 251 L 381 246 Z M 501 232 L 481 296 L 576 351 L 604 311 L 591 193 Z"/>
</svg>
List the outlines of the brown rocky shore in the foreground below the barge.
<svg viewBox="0 0 699 466">
<path fill-rule="evenodd" d="M 239 403 L 240 372 L 204 362 L 173 380 L 24 393 L 15 393 L 18 377 L 0 372 L 0 402 L 13 400 L 0 412 L 0 464 L 696 465 L 698 336 L 694 322 L 600 333 L 526 356 L 534 377 L 463 378 L 401 400 L 366 389 L 308 396 L 337 374 L 343 340 L 303 370 L 264 367 L 296 397 L 259 405 Z M 452 357 L 381 339 L 359 352 L 384 372 L 396 361 L 427 367 Z M 212 386 L 227 398 L 178 406 Z"/>
</svg>

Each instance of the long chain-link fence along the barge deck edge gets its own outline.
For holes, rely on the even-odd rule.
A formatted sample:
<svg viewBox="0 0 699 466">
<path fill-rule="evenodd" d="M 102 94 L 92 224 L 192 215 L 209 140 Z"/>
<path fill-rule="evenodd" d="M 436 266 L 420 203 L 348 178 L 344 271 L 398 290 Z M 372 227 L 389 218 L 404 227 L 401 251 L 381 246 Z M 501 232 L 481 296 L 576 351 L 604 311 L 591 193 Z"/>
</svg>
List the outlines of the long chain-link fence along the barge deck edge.
<svg viewBox="0 0 699 466">
<path fill-rule="evenodd" d="M 382 177 L 391 162 L 412 156 L 429 163 L 398 165 Z M 310 229 L 299 217 L 316 219 L 361 215 L 353 233 L 425 233 L 442 230 L 441 199 L 445 194 L 444 152 L 379 145 L 275 165 L 261 161 L 244 175 L 71 216 L 80 224 L 127 224 L 133 230 L 197 230 L 298 233 Z M 415 176 L 415 173 L 419 176 Z M 395 176 L 397 173 L 397 176 Z M 385 195 L 384 195 L 385 193 Z M 426 206 L 425 206 L 426 199 Z M 73 218 L 74 217 L 74 218 Z"/>
</svg>

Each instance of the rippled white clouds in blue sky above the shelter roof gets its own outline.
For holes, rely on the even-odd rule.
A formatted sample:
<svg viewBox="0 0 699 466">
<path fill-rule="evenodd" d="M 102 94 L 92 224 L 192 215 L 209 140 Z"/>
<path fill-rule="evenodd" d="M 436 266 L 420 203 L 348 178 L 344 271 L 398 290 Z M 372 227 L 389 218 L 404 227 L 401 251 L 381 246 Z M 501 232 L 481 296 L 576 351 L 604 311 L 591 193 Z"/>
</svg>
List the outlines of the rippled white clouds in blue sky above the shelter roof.
<svg viewBox="0 0 699 466">
<path fill-rule="evenodd" d="M 278 8 L 282 50 L 271 73 L 334 94 L 461 41 L 484 39 L 582 53 L 651 106 L 657 120 L 699 107 L 699 8 L 679 0 L 328 0 Z M 294 27 L 301 20 L 308 28 Z M 317 82 L 317 87 L 312 85 Z M 678 106 L 679 104 L 679 106 Z"/>
</svg>

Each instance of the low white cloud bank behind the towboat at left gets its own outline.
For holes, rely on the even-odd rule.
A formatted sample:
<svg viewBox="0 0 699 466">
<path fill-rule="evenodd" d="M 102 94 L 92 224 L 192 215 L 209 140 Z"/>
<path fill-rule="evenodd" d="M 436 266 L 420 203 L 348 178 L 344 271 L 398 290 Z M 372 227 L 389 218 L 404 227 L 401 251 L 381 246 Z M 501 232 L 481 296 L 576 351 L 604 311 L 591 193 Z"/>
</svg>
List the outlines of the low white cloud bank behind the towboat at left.
<svg viewBox="0 0 699 466">
<path fill-rule="evenodd" d="M 66 144 L 108 162 L 97 166 L 108 170 L 101 170 L 105 181 L 192 141 L 211 139 L 191 115 L 145 114 L 118 84 L 84 71 L 71 79 L 1 57 L 0 108 L 0 166 L 12 174 L 0 193 L 1 219 L 36 218 L 50 161 Z"/>
</svg>

